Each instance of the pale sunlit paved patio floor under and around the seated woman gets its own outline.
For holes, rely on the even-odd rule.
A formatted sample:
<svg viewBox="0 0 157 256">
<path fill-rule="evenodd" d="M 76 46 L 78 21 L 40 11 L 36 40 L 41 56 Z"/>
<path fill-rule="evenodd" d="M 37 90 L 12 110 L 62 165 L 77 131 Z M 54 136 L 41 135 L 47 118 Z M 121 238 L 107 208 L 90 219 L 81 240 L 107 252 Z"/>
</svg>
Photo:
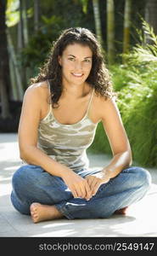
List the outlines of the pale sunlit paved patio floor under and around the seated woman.
<svg viewBox="0 0 157 256">
<path fill-rule="evenodd" d="M 91 167 L 105 166 L 109 158 L 89 154 Z M 157 170 L 149 169 L 152 186 L 126 216 L 108 219 L 59 219 L 33 224 L 10 202 L 11 177 L 20 166 L 17 134 L 0 134 L 0 237 L 120 237 L 157 236 Z"/>
</svg>

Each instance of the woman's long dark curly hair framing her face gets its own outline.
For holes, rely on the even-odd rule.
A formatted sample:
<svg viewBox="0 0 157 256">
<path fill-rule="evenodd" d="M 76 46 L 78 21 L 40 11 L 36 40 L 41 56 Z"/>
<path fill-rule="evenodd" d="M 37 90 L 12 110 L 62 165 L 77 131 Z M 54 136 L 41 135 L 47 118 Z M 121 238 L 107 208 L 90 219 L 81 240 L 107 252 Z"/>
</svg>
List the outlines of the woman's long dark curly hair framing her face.
<svg viewBox="0 0 157 256">
<path fill-rule="evenodd" d="M 59 107 L 59 97 L 62 95 L 62 69 L 59 65 L 59 56 L 70 44 L 88 46 L 93 52 L 93 65 L 87 77 L 87 83 L 95 89 L 96 94 L 105 98 L 113 96 L 112 84 L 109 79 L 109 71 L 105 67 L 101 46 L 93 32 L 87 28 L 71 27 L 65 29 L 59 38 L 53 43 L 47 60 L 40 68 L 40 72 L 31 79 L 31 84 L 49 81 L 53 108 Z"/>
</svg>

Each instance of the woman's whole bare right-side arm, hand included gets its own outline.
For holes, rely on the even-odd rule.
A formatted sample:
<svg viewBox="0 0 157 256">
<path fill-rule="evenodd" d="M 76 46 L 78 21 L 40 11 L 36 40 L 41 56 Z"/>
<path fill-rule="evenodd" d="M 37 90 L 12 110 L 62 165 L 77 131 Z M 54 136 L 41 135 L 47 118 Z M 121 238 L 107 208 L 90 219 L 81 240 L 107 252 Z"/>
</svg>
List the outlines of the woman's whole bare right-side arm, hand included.
<svg viewBox="0 0 157 256">
<path fill-rule="evenodd" d="M 113 158 L 109 165 L 104 166 L 102 172 L 87 177 L 93 195 L 102 183 L 109 182 L 110 178 L 116 177 L 124 168 L 132 164 L 132 150 L 114 99 L 101 100 L 100 113 Z"/>
</svg>

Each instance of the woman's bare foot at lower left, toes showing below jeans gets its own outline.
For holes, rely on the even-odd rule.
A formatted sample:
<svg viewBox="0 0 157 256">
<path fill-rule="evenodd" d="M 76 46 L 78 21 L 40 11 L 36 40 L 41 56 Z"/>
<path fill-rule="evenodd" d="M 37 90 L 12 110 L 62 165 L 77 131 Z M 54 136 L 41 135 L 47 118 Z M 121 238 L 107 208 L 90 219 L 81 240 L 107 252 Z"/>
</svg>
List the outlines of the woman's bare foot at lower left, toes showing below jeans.
<svg viewBox="0 0 157 256">
<path fill-rule="evenodd" d="M 32 203 L 30 207 L 31 218 L 34 223 L 54 218 L 63 218 L 63 214 L 54 206 L 42 205 L 40 203 Z"/>
</svg>

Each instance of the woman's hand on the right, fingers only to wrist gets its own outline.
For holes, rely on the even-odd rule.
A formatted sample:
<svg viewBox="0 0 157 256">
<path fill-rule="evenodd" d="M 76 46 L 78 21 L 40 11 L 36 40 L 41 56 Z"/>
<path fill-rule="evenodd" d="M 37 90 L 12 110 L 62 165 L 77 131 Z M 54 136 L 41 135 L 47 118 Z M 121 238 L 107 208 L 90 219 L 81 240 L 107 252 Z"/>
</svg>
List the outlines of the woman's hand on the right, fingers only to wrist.
<svg viewBox="0 0 157 256">
<path fill-rule="evenodd" d="M 92 195 L 95 195 L 98 191 L 98 188 L 104 184 L 109 182 L 109 172 L 102 171 L 95 173 L 93 175 L 89 175 L 85 177 L 87 179 L 87 183 L 92 190 Z"/>
</svg>

